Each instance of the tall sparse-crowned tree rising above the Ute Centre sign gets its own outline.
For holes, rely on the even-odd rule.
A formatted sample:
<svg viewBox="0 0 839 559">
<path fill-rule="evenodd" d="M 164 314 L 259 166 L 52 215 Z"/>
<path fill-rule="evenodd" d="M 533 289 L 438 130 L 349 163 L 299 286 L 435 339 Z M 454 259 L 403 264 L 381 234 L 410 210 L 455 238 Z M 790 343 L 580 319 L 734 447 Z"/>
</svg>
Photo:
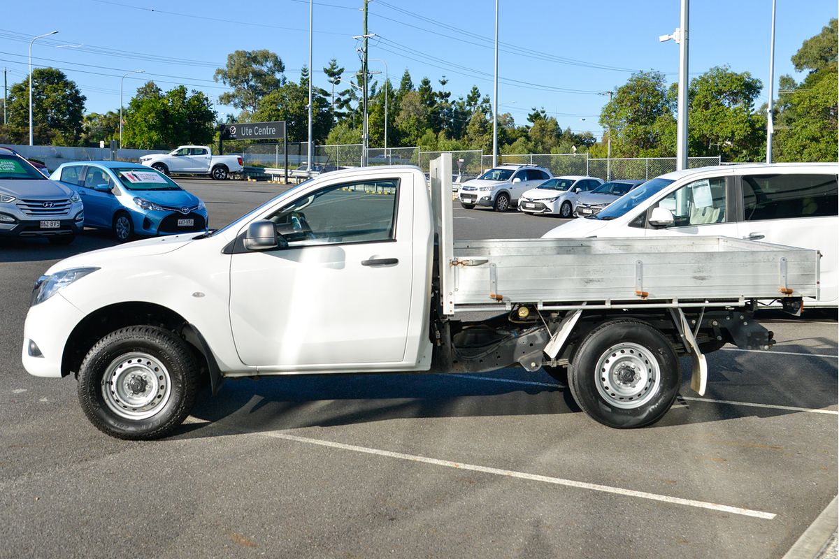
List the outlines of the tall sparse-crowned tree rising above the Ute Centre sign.
<svg viewBox="0 0 839 559">
<path fill-rule="evenodd" d="M 283 60 L 268 49 L 227 54 L 227 66 L 216 69 L 213 79 L 229 85 L 233 91 L 222 93 L 218 101 L 244 111 L 243 116 L 252 115 L 263 96 L 284 84 L 284 71 Z"/>
</svg>

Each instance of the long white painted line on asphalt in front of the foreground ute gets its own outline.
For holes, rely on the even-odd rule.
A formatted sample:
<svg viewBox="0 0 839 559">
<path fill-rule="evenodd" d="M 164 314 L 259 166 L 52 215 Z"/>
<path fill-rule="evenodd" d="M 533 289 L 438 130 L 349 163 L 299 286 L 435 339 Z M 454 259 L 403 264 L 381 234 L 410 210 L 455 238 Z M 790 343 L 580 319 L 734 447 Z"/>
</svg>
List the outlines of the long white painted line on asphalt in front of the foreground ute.
<svg viewBox="0 0 839 559">
<path fill-rule="evenodd" d="M 355 453 L 373 454 L 376 456 L 383 456 L 387 458 L 397 458 L 399 460 L 409 460 L 411 462 L 420 462 L 433 464 L 435 466 L 445 466 L 446 468 L 456 468 L 471 470 L 473 472 L 482 472 L 483 474 L 502 475 L 508 478 L 527 479 L 529 481 L 540 481 L 545 484 L 564 485 L 566 487 L 574 487 L 577 489 L 590 489 L 591 491 L 600 491 L 602 493 L 611 493 L 624 495 L 627 497 L 636 497 L 638 499 L 649 499 L 670 503 L 671 505 L 684 505 L 695 507 L 699 509 L 717 510 L 719 512 L 727 512 L 732 515 L 751 516 L 763 520 L 773 520 L 776 516 L 771 512 L 763 512 L 762 510 L 743 509 L 737 506 L 719 505 L 717 503 L 709 503 L 706 501 L 698 501 L 694 499 L 682 499 L 681 497 L 670 497 L 669 495 L 661 495 L 655 493 L 647 493 L 646 491 L 635 491 L 633 489 L 622 489 L 619 487 L 610 487 L 609 485 L 589 484 L 583 481 L 575 481 L 573 479 L 551 478 L 545 475 L 525 474 L 524 472 L 516 472 L 508 469 L 487 468 L 486 466 L 477 466 L 475 464 L 467 464 L 461 462 L 451 462 L 450 460 L 439 460 L 437 458 L 428 458 L 425 456 L 415 456 L 414 454 L 394 453 L 389 450 L 381 450 L 378 448 L 358 447 L 354 444 L 333 443 L 332 441 L 324 441 L 317 438 L 298 437 L 296 435 L 289 435 L 284 432 L 256 432 L 255 434 L 264 435 L 266 437 L 281 438 L 287 441 L 295 441 L 297 443 L 315 444 L 321 447 L 339 448 L 341 450 L 349 450 Z"/>
</svg>

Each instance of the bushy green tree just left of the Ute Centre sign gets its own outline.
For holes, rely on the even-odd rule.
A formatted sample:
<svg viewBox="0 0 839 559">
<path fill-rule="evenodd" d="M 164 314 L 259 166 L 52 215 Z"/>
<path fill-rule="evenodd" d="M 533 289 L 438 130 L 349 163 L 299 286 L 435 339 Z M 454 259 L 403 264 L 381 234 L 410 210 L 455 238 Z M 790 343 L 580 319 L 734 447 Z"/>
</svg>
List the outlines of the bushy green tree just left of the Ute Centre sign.
<svg viewBox="0 0 839 559">
<path fill-rule="evenodd" d="M 122 139 L 126 147 L 165 149 L 211 142 L 216 111 L 201 91 L 189 93 L 184 85 L 178 85 L 164 93 L 149 81 L 129 101 L 124 118 Z"/>
</svg>

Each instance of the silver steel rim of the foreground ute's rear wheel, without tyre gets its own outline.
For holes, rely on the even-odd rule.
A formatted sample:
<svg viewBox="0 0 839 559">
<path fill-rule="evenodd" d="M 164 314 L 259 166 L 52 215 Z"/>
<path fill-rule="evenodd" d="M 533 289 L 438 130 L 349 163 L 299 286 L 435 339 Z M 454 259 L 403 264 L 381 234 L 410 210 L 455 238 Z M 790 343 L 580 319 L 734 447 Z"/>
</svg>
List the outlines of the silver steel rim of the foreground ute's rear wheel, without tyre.
<svg viewBox="0 0 839 559">
<path fill-rule="evenodd" d="M 597 360 L 595 384 L 609 406 L 624 410 L 644 406 L 659 391 L 659 361 L 643 345 L 614 344 Z"/>
</svg>

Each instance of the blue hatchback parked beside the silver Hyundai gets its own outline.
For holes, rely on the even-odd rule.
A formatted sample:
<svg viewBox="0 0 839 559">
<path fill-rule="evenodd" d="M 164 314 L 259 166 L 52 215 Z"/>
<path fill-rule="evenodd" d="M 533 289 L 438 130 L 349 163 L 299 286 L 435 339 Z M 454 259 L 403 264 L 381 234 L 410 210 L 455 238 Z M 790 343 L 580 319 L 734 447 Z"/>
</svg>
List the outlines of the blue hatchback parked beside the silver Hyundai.
<svg viewBox="0 0 839 559">
<path fill-rule="evenodd" d="M 120 161 L 62 163 L 50 179 L 76 190 L 85 225 L 112 230 L 119 241 L 135 235 L 207 230 L 204 202 L 153 168 Z"/>
</svg>

